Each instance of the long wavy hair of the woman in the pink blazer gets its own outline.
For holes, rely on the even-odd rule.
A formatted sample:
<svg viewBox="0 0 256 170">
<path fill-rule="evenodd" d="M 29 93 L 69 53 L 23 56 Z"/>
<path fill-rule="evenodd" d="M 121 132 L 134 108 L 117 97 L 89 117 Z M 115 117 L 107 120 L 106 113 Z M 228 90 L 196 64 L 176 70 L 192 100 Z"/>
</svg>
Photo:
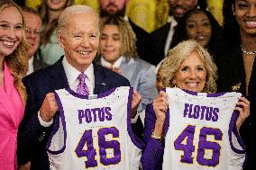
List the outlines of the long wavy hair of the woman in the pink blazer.
<svg viewBox="0 0 256 170">
<path fill-rule="evenodd" d="M 14 3 L 12 0 L 2 0 L 0 1 L 0 11 L 3 11 L 7 7 L 14 6 L 17 10 L 22 13 L 22 9 Z M 24 26 L 24 18 L 23 18 L 23 26 Z M 5 57 L 5 62 L 7 66 L 11 69 L 11 73 L 14 76 L 14 86 L 17 88 L 23 103 L 26 101 L 26 89 L 23 85 L 22 79 L 23 76 L 27 73 L 28 70 L 28 57 L 26 50 L 28 49 L 28 44 L 24 39 L 24 32 L 23 32 L 23 40 L 18 45 L 18 47 L 14 50 L 14 52 Z"/>
</svg>

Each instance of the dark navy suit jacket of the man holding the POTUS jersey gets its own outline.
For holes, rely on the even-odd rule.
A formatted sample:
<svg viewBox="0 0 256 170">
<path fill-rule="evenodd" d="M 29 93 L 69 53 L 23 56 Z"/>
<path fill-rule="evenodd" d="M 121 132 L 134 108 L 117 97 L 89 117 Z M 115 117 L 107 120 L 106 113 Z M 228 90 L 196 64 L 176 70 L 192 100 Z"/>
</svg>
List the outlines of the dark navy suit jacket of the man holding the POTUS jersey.
<svg viewBox="0 0 256 170">
<path fill-rule="evenodd" d="M 46 143 L 52 126 L 49 128 L 42 127 L 38 120 L 38 112 L 46 94 L 69 86 L 62 65 L 62 58 L 55 64 L 23 78 L 28 99 L 25 115 L 18 132 L 17 156 L 20 166 L 31 161 L 31 169 L 49 169 Z M 117 86 L 130 86 L 129 81 L 123 76 L 95 63 L 93 65 L 95 74 L 94 94 L 104 93 Z"/>
</svg>

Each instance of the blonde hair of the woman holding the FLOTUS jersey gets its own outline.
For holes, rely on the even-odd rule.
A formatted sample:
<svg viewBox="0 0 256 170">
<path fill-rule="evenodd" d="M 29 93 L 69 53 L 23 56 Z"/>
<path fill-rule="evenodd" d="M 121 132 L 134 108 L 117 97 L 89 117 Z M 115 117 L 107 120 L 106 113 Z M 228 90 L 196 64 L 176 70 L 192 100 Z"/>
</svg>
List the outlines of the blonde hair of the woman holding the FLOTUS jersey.
<svg viewBox="0 0 256 170">
<path fill-rule="evenodd" d="M 203 89 L 205 93 L 215 93 L 217 90 L 217 67 L 210 54 L 200 46 L 195 40 L 185 40 L 178 43 L 173 49 L 169 50 L 169 56 L 163 59 L 160 65 L 159 74 L 161 81 L 166 87 L 173 87 L 173 79 L 185 58 L 193 51 L 197 51 L 206 67 L 206 85 Z"/>
</svg>

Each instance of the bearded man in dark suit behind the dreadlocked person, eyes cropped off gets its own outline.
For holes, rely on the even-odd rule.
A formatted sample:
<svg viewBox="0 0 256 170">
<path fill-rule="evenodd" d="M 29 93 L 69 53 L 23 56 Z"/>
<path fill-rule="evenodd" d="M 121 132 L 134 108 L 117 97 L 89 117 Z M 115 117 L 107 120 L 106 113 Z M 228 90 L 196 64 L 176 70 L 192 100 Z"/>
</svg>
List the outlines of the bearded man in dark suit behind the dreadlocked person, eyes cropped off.
<svg viewBox="0 0 256 170">
<path fill-rule="evenodd" d="M 130 22 L 134 33 L 136 34 L 136 47 L 140 58 L 153 64 L 153 51 L 151 49 L 151 37 L 147 31 L 144 31 L 140 26 L 136 25 L 131 19 L 125 15 L 125 6 L 128 0 L 98 0 L 100 6 L 100 16 L 117 15 L 122 16 Z"/>
</svg>

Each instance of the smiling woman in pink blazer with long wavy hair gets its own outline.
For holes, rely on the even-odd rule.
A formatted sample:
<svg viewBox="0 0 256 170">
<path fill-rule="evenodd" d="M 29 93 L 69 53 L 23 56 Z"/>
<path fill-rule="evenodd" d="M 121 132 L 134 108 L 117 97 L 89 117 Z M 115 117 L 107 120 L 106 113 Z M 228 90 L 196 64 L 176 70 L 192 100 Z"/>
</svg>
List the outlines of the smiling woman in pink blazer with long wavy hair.
<svg viewBox="0 0 256 170">
<path fill-rule="evenodd" d="M 17 131 L 23 119 L 28 67 L 23 14 L 12 0 L 0 1 L 0 169 L 14 170 Z"/>
</svg>

